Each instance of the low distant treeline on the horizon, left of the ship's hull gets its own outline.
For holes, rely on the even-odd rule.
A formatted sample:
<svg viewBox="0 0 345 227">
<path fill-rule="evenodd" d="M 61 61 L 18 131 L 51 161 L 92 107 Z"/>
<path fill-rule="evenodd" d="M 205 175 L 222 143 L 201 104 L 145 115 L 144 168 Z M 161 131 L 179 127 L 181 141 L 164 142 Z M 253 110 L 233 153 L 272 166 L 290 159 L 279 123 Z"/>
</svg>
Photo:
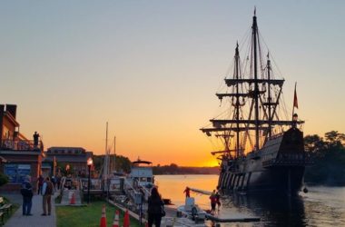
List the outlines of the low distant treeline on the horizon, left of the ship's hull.
<svg viewBox="0 0 345 227">
<path fill-rule="evenodd" d="M 177 164 L 153 166 L 153 174 L 218 174 L 219 166 L 215 167 L 183 167 Z"/>
</svg>

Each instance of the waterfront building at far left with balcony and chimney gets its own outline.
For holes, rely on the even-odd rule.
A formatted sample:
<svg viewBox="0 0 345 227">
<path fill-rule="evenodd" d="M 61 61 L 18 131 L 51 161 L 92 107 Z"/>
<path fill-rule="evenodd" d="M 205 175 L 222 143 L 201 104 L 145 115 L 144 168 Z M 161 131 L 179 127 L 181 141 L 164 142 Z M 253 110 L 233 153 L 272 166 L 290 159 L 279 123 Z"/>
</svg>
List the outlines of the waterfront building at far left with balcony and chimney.
<svg viewBox="0 0 345 227">
<path fill-rule="evenodd" d="M 19 129 L 16 105 L 0 104 L 0 172 L 9 177 L 9 183 L 0 191 L 19 190 L 26 175 L 30 175 L 35 182 L 41 170 L 44 143 L 38 133 L 33 140 L 29 140 Z"/>
</svg>

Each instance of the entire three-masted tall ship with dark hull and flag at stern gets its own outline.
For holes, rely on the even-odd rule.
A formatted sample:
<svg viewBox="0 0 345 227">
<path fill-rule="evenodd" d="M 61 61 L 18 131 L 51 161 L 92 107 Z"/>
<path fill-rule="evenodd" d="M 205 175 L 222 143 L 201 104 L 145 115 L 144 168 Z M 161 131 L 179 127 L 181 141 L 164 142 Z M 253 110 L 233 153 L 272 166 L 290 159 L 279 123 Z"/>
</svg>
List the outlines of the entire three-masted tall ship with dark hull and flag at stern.
<svg viewBox="0 0 345 227">
<path fill-rule="evenodd" d="M 271 63 L 267 46 L 261 44 L 255 11 L 244 40 L 245 60 L 236 44 L 233 71 L 216 94 L 222 114 L 201 129 L 218 149 L 212 152 L 221 165 L 218 188 L 223 192 L 295 194 L 301 191 L 308 163 L 304 122 L 295 113 L 296 85 L 293 108 L 288 111 L 282 97 L 285 80 Z"/>
</svg>

